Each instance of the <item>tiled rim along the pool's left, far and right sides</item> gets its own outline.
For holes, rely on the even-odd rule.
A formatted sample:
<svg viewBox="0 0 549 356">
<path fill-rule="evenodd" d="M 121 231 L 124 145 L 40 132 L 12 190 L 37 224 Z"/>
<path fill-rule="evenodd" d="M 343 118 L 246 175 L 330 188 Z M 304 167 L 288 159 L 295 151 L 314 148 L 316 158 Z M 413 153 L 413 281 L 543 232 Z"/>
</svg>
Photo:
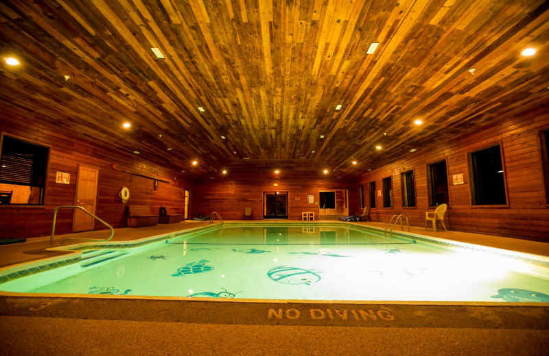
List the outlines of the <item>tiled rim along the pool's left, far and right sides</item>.
<svg viewBox="0 0 549 356">
<path fill-rule="evenodd" d="M 224 226 L 239 226 L 242 224 L 243 223 L 240 223 L 240 222 L 227 222 L 227 223 L 224 223 Z M 292 222 L 286 221 L 286 222 L 279 223 L 279 222 L 269 222 L 269 221 L 261 220 L 257 222 L 249 222 L 249 223 L 246 222 L 245 224 L 257 225 L 257 226 L 266 226 L 266 225 L 267 226 L 288 226 L 288 225 L 303 225 L 304 223 L 301 221 L 292 221 Z M 315 221 L 315 222 L 307 222 L 305 224 L 307 226 L 312 226 L 312 227 L 315 227 L 315 226 L 325 227 L 327 225 L 343 225 L 347 227 L 352 227 L 353 229 L 366 229 L 366 230 L 371 229 L 377 232 L 384 231 L 384 229 L 380 227 L 373 227 L 369 225 L 357 225 L 353 223 L 340 222 L 340 221 L 330 221 L 330 222 Z M 1 268 L 0 284 L 6 283 L 8 281 L 12 281 L 14 279 L 19 279 L 21 277 L 25 277 L 27 275 L 34 275 L 36 273 L 44 272 L 46 270 L 52 270 L 54 268 L 78 263 L 81 260 L 82 251 L 86 251 L 89 249 L 130 249 L 130 248 L 145 246 L 147 244 L 153 244 L 155 242 L 160 242 L 163 240 L 178 238 L 184 235 L 193 235 L 194 233 L 202 233 L 209 229 L 217 229 L 220 226 L 223 226 L 223 225 L 220 223 L 215 223 L 212 225 L 194 227 L 191 229 L 175 231 L 175 232 L 166 233 L 163 235 L 149 236 L 149 237 L 139 238 L 136 240 L 130 240 L 125 242 L 119 242 L 119 241 L 117 242 L 84 242 L 84 243 L 72 244 L 68 246 L 56 246 L 48 250 L 73 251 L 73 253 L 69 253 L 68 255 L 57 256 L 57 257 L 47 257 L 45 259 L 38 259 L 34 262 L 25 262 L 23 264 L 16 264 L 16 265 L 8 266 L 5 268 Z M 520 262 L 533 264 L 534 266 L 549 268 L 549 257 L 546 257 L 546 256 L 532 255 L 529 253 L 521 253 L 516 251 L 507 251 L 507 250 L 497 249 L 489 246 L 469 244 L 467 242 L 458 242 L 454 240 L 447 240 L 444 238 L 435 238 L 433 236 L 423 236 L 423 235 L 419 235 L 417 233 L 412 233 L 412 232 L 393 231 L 393 236 L 398 236 L 401 238 L 412 238 L 414 240 L 423 242 L 425 244 L 435 244 L 435 245 L 445 246 L 453 249 L 463 249 L 464 251 L 469 250 L 469 251 L 476 251 L 481 253 L 491 253 L 491 254 L 498 255 L 500 257 L 512 258 Z M 49 263 L 45 264 L 45 262 L 49 262 Z M 23 267 L 23 266 L 27 266 L 27 268 L 19 269 L 20 267 Z M 0 294 L 1 293 L 3 292 L 0 290 Z"/>
</svg>

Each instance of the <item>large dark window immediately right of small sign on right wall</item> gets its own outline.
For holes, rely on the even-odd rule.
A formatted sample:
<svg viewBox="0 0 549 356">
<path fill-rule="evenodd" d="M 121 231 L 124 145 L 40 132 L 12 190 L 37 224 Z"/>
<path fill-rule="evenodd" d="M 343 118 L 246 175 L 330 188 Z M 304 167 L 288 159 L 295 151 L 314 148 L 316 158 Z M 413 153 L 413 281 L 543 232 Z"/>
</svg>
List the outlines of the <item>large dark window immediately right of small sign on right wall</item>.
<svg viewBox="0 0 549 356">
<path fill-rule="evenodd" d="M 469 153 L 471 205 L 505 205 L 505 181 L 500 145 Z"/>
</svg>

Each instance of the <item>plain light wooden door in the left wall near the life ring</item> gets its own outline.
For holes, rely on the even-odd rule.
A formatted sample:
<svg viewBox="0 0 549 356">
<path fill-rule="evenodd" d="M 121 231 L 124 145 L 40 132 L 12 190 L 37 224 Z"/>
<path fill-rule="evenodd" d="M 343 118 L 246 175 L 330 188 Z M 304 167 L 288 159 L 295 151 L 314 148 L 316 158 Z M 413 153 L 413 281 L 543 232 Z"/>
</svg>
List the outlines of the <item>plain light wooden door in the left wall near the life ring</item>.
<svg viewBox="0 0 549 356">
<path fill-rule="evenodd" d="M 97 197 L 97 176 L 99 170 L 78 165 L 75 205 L 80 205 L 95 215 Z M 73 215 L 73 232 L 95 229 L 95 219 L 80 209 Z"/>
</svg>

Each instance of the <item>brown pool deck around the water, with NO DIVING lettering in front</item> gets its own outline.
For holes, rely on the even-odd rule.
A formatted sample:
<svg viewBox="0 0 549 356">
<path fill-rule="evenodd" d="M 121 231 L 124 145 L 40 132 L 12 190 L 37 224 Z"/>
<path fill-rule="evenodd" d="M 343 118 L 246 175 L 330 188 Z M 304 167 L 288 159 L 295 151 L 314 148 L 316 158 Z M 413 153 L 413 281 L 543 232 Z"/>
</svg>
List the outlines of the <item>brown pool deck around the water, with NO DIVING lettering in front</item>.
<svg viewBox="0 0 549 356">
<path fill-rule="evenodd" d="M 208 224 L 116 229 L 113 241 Z M 549 256 L 545 242 L 422 227 L 411 232 Z M 54 246 L 82 236 L 106 238 L 108 231 L 56 236 Z M 49 237 L 2 245 L 0 266 L 63 253 L 48 247 Z M 546 355 L 549 306 L 543 304 L 7 295 L 0 296 L 0 349 L 2 355 Z"/>
</svg>

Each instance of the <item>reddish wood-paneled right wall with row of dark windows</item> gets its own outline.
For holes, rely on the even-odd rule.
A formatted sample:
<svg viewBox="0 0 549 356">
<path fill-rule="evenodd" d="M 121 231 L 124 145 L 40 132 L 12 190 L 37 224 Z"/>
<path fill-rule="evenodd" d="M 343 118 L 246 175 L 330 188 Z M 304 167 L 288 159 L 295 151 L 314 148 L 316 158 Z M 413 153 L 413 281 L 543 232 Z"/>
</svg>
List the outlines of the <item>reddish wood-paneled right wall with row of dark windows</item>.
<svg viewBox="0 0 549 356">
<path fill-rule="evenodd" d="M 375 181 L 376 190 L 382 190 L 382 179 L 393 177 L 393 208 L 384 208 L 382 196 L 376 194 L 377 207 L 370 212 L 372 220 L 388 222 L 394 214 L 405 214 L 410 225 L 424 226 L 425 212 L 434 210 L 428 206 L 427 165 L 446 160 L 450 199 L 445 215 L 448 229 L 549 242 L 549 206 L 538 139 L 540 130 L 549 129 L 549 114 L 546 107 L 511 114 L 509 120 L 451 142 L 417 147 L 416 152 L 404 153 L 401 160 L 362 175 L 360 184 L 364 185 L 364 192 L 368 192 L 369 182 Z M 503 147 L 509 205 L 471 205 L 467 153 L 498 143 Z M 417 207 L 402 207 L 400 174 L 410 169 L 415 173 Z M 465 182 L 454 185 L 452 176 L 458 174 L 463 174 Z M 369 204 L 366 194 L 364 202 Z"/>
</svg>

